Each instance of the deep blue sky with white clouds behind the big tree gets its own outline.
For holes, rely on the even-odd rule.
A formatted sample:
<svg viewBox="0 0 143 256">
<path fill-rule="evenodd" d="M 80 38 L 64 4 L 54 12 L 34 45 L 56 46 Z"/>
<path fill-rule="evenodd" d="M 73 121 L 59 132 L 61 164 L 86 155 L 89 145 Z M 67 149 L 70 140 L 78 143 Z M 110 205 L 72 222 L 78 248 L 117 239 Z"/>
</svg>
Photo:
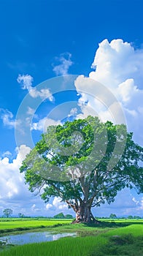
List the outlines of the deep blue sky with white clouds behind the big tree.
<svg viewBox="0 0 143 256">
<path fill-rule="evenodd" d="M 142 0 L 0 1 L 0 216 L 74 214 L 58 197 L 44 203 L 29 192 L 19 172 L 50 124 L 98 114 L 124 121 L 143 146 L 142 10 Z M 123 189 L 93 209 L 111 213 L 143 216 L 143 195 Z"/>
</svg>

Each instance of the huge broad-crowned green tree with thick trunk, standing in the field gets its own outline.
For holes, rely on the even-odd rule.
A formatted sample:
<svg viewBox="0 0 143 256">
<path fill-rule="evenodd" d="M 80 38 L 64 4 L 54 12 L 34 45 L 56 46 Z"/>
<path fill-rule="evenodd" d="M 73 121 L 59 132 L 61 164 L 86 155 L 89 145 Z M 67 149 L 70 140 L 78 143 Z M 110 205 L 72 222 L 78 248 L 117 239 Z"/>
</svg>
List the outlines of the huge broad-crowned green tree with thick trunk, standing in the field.
<svg viewBox="0 0 143 256">
<path fill-rule="evenodd" d="M 45 202 L 61 197 L 75 211 L 75 222 L 95 222 L 91 207 L 112 203 L 125 187 L 143 191 L 143 148 L 132 135 L 123 124 L 92 116 L 50 126 L 20 172 Z"/>
</svg>

